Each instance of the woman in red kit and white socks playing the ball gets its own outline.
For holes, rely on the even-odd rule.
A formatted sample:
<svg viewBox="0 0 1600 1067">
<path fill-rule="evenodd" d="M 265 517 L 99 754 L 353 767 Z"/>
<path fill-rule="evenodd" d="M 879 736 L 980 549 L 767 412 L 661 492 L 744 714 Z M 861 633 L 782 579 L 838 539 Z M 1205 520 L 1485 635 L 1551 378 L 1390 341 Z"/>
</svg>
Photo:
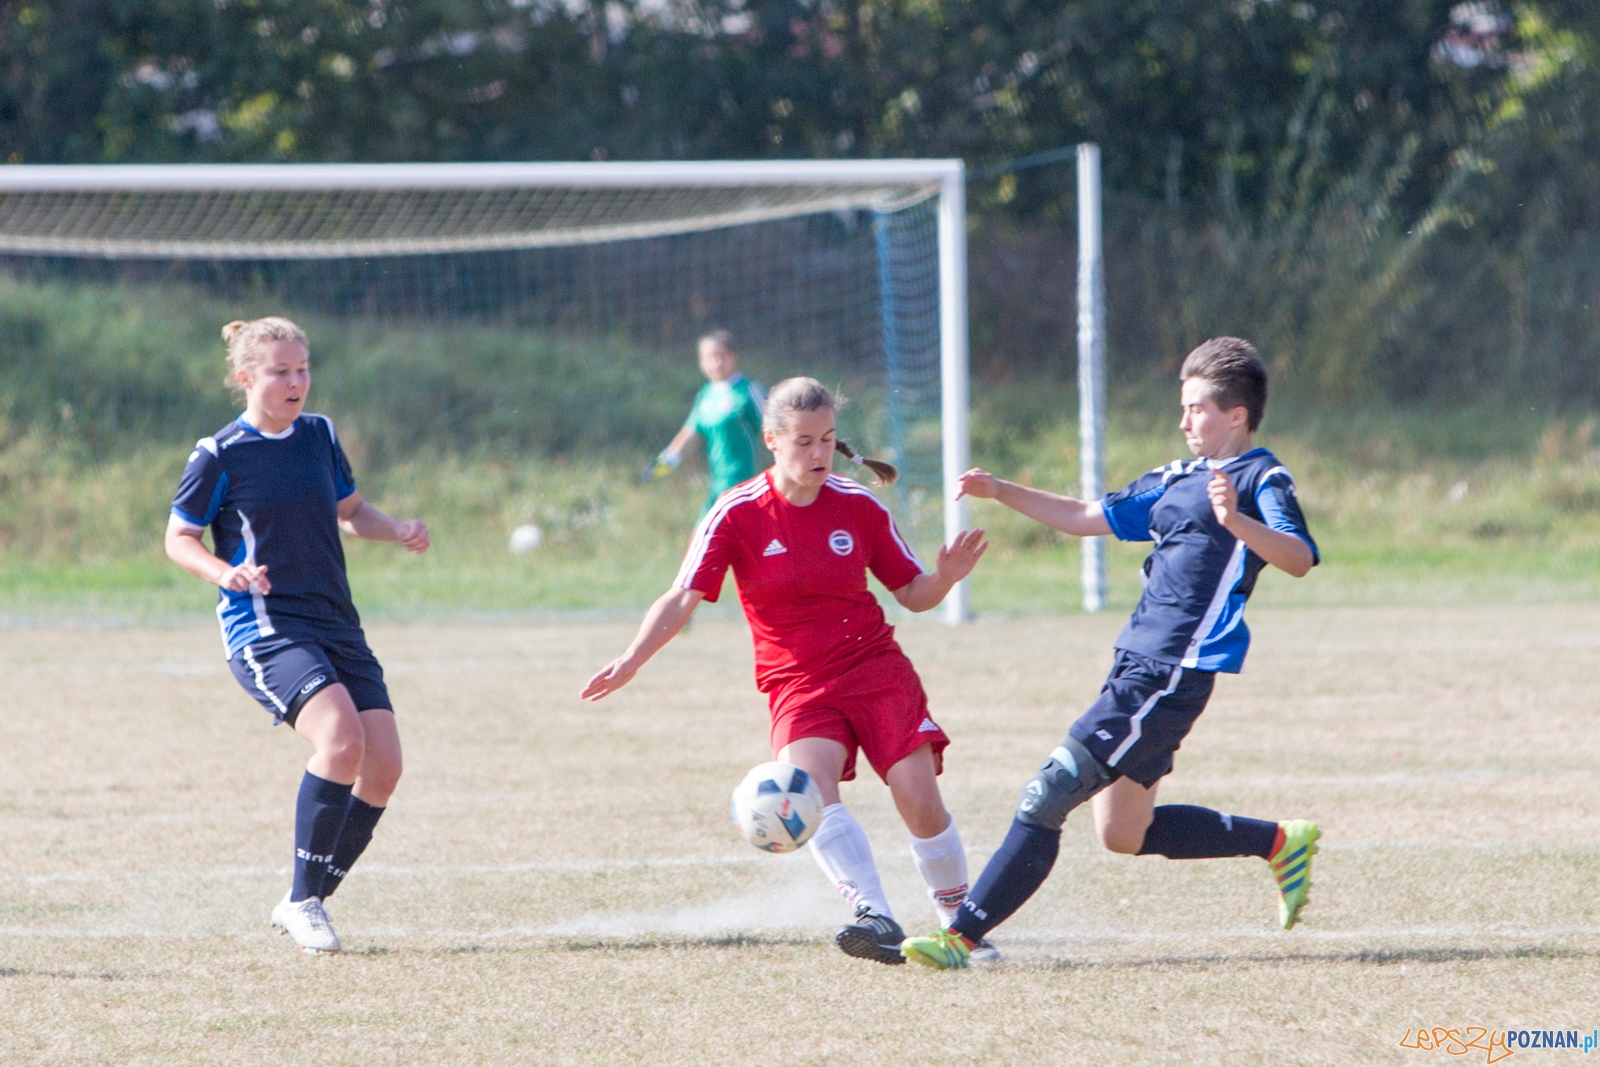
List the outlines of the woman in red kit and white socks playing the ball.
<svg viewBox="0 0 1600 1067">
<path fill-rule="evenodd" d="M 853 957 L 904 963 L 906 936 L 883 896 L 867 835 L 838 801 L 838 784 L 856 776 L 856 750 L 888 784 L 946 923 L 966 897 L 966 853 L 936 777 L 950 739 L 928 715 L 922 681 L 867 590 L 867 571 L 901 606 L 928 611 L 989 545 L 982 530 L 963 533 L 939 549 L 938 568 L 925 574 L 878 498 L 832 474 L 838 451 L 885 482 L 896 477 L 890 464 L 861 459 L 838 440 L 837 406 L 811 378 L 790 378 L 768 394 L 762 430 L 773 467 L 717 499 L 672 589 L 582 697 L 598 701 L 627 685 L 701 600 L 717 600 L 733 568 L 755 641 L 755 683 L 771 705 L 773 753 L 811 774 L 827 805 L 811 854 L 854 910 L 834 941 Z"/>
</svg>

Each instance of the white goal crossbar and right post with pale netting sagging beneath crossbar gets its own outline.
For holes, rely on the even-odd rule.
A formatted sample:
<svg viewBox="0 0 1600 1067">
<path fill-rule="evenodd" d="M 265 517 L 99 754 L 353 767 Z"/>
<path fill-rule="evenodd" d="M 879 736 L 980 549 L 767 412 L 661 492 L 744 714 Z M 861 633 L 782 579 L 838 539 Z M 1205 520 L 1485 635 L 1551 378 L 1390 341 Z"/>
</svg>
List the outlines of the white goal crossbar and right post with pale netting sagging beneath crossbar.
<svg viewBox="0 0 1600 1067">
<path fill-rule="evenodd" d="M 582 197 L 578 197 L 582 190 Z M 571 192 L 573 195 L 563 195 Z M 968 467 L 962 160 L 0 168 L 0 256 L 379 258 L 670 237 L 938 198 L 944 537 Z M 235 211 L 240 202 L 250 211 Z M 136 210 L 138 208 L 138 210 Z M 946 617 L 968 617 L 962 582 Z"/>
</svg>

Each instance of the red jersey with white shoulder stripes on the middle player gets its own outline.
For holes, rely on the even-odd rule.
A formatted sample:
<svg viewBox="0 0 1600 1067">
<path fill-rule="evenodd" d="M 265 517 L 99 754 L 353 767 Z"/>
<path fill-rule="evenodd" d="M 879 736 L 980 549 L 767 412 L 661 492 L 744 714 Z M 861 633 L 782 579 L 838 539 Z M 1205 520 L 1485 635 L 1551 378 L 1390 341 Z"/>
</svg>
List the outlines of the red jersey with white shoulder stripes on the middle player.
<svg viewBox="0 0 1600 1067">
<path fill-rule="evenodd" d="M 835 675 L 894 648 L 867 571 L 890 589 L 922 574 L 890 509 L 869 488 L 829 475 L 816 501 L 797 507 L 773 488 L 770 472 L 717 498 L 674 585 L 715 603 L 730 566 L 750 621 L 762 693 Z"/>
</svg>

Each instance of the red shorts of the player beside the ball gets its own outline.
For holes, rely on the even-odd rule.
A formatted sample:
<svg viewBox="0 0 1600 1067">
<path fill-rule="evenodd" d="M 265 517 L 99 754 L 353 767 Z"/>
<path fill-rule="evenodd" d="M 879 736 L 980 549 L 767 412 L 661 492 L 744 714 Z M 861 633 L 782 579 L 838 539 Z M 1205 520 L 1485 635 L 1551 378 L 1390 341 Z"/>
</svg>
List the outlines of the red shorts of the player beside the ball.
<svg viewBox="0 0 1600 1067">
<path fill-rule="evenodd" d="M 826 680 L 806 678 L 768 694 L 773 712 L 773 757 L 790 741 L 829 737 L 845 745 L 845 773 L 856 777 L 856 749 L 878 773 L 933 744 L 933 771 L 944 771 L 950 739 L 928 717 L 928 694 L 917 670 L 898 648 Z"/>
</svg>

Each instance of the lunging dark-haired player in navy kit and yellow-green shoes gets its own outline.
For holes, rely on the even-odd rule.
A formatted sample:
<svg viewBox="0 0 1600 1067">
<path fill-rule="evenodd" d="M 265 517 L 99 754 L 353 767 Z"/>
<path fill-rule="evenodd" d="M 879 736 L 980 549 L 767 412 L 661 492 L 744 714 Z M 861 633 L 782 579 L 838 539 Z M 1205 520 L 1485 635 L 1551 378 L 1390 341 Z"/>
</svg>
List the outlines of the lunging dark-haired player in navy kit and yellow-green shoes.
<svg viewBox="0 0 1600 1067">
<path fill-rule="evenodd" d="M 987 470 L 962 475 L 965 494 L 1064 533 L 1155 547 L 1099 699 L 1022 787 L 1011 830 L 962 913 L 947 929 L 907 939 L 909 960 L 966 966 L 973 945 L 1043 885 L 1061 825 L 1083 803 L 1091 803 L 1094 832 L 1114 853 L 1266 859 L 1278 883 L 1278 923 L 1288 929 L 1299 921 L 1320 837 L 1314 822 L 1155 806 L 1157 785 L 1205 710 L 1216 675 L 1243 667 L 1245 601 L 1261 569 L 1272 565 L 1302 577 L 1317 565 L 1293 477 L 1254 445 L 1267 403 L 1267 370 L 1254 347 L 1238 338 L 1206 341 L 1184 360 L 1181 381 L 1181 427 L 1195 459 L 1157 467 L 1102 501 L 1030 490 Z"/>
</svg>

